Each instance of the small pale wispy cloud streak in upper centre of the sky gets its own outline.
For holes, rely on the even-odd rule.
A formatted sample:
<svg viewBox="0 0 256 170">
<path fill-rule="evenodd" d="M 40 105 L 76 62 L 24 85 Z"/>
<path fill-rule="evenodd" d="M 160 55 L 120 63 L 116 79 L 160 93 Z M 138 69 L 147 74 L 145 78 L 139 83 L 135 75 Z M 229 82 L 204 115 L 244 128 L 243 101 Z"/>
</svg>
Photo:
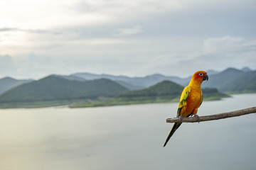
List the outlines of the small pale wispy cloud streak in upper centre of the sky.
<svg viewBox="0 0 256 170">
<path fill-rule="evenodd" d="M 127 36 L 142 33 L 142 26 L 133 26 L 132 28 L 119 28 L 113 31 L 114 36 Z"/>
</svg>

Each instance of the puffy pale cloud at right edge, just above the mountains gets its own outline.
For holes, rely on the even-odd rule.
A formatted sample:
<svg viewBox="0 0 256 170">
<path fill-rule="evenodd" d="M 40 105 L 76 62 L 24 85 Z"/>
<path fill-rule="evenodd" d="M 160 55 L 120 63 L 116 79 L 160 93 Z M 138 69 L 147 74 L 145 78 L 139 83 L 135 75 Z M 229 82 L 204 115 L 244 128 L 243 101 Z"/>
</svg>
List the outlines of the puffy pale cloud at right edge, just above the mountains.
<svg viewBox="0 0 256 170">
<path fill-rule="evenodd" d="M 256 64 L 256 40 L 242 37 L 224 36 L 207 38 L 203 41 L 203 51 L 197 60 L 210 69 L 225 67 L 251 67 Z"/>
</svg>

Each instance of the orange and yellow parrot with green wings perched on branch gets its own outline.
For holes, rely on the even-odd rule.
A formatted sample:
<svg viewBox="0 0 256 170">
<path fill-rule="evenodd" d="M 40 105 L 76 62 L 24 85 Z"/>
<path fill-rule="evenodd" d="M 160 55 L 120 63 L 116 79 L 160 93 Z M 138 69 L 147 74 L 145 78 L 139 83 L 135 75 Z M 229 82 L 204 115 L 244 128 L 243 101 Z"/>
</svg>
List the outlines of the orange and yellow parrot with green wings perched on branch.
<svg viewBox="0 0 256 170">
<path fill-rule="evenodd" d="M 174 123 L 174 126 L 171 129 L 171 132 L 167 137 L 166 142 L 164 143 L 164 147 L 166 146 L 166 143 L 169 141 L 170 137 L 174 135 L 174 132 L 181 125 L 183 118 L 187 118 L 191 115 L 194 115 L 198 118 L 199 121 L 199 116 L 196 115 L 196 113 L 203 101 L 203 92 L 201 90 L 201 84 L 205 80 L 208 80 L 208 75 L 206 72 L 195 72 L 188 86 L 186 86 L 183 89 L 177 111 L 177 118 L 180 119 L 180 123 Z"/>
</svg>

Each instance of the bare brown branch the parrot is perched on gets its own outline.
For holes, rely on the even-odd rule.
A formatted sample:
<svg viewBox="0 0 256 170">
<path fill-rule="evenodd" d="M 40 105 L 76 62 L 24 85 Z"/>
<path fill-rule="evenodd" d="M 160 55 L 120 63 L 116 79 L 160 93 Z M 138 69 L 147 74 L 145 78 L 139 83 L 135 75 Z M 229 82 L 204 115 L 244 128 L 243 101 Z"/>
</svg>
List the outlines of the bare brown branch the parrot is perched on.
<svg viewBox="0 0 256 170">
<path fill-rule="evenodd" d="M 199 116 L 200 122 L 203 121 L 209 121 L 209 120 L 218 120 L 218 119 L 223 119 L 223 118 L 232 118 L 235 116 L 240 116 L 240 115 L 247 115 L 250 113 L 256 113 L 256 106 L 252 108 L 245 108 L 239 111 L 231 111 L 231 112 L 226 112 L 226 113 L 219 113 L 215 115 L 204 115 L 204 116 Z M 179 123 L 180 120 L 178 118 L 168 118 L 166 119 L 166 123 Z M 195 123 L 198 122 L 198 118 L 196 117 L 191 117 L 191 118 L 183 118 L 182 120 L 183 123 Z"/>
</svg>

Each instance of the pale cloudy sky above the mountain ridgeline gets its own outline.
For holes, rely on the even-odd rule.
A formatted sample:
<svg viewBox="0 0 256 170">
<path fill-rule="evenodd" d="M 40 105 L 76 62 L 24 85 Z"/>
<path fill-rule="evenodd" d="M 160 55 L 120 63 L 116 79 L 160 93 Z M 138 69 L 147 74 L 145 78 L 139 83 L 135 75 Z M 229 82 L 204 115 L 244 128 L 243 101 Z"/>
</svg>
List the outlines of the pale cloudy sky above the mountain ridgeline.
<svg viewBox="0 0 256 170">
<path fill-rule="evenodd" d="M 256 0 L 1 0 L 0 78 L 256 69 Z"/>
</svg>

